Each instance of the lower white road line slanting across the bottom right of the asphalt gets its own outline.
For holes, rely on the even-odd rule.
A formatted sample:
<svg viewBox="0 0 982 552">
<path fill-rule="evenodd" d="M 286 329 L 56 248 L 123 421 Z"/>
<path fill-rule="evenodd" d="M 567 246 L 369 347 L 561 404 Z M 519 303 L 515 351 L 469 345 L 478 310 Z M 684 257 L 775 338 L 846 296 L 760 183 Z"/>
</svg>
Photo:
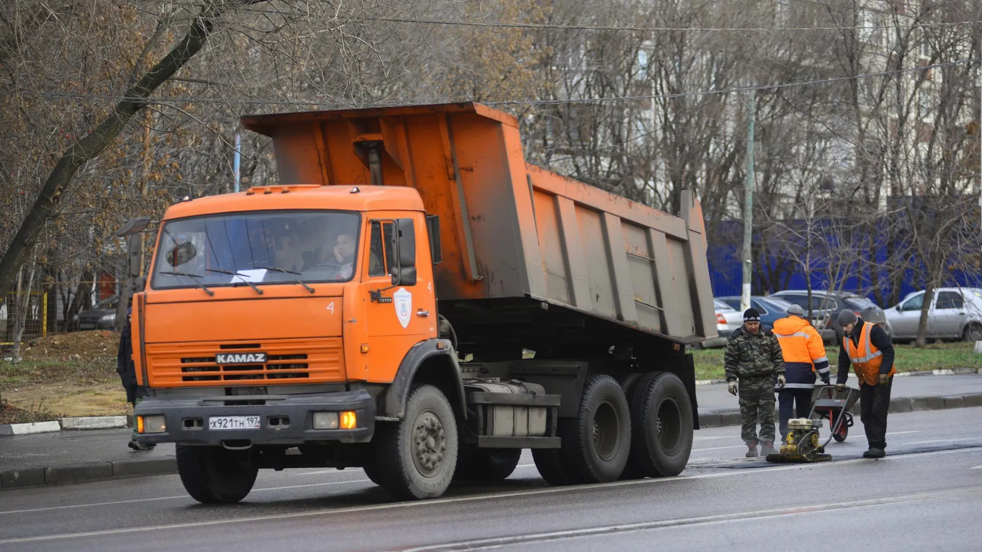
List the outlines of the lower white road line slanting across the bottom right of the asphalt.
<svg viewBox="0 0 982 552">
<path fill-rule="evenodd" d="M 874 498 L 867 500 L 853 500 L 849 502 L 834 502 L 829 504 L 815 504 L 810 506 L 794 506 L 790 508 L 776 508 L 773 510 L 757 510 L 751 512 L 739 512 L 734 514 L 718 514 L 715 516 L 699 516 L 694 518 L 682 518 L 675 520 L 663 520 L 658 522 L 641 522 L 635 524 L 616 524 L 604 525 L 599 527 L 588 527 L 580 529 L 569 529 L 561 531 L 549 531 L 532 534 L 522 534 L 514 536 L 502 536 L 492 538 L 481 538 L 474 540 L 464 540 L 446 544 L 435 544 L 419 546 L 415 548 L 402 548 L 402 552 L 451 552 L 455 550 L 483 550 L 487 548 L 499 548 L 515 544 L 527 544 L 548 540 L 565 540 L 586 536 L 596 536 L 602 534 L 634 532 L 641 530 L 653 530 L 662 528 L 678 527 L 682 525 L 699 524 L 723 524 L 729 522 L 744 522 L 762 518 L 773 518 L 781 516 L 795 516 L 802 513 L 828 512 L 834 510 L 846 510 L 853 508 L 870 508 L 876 506 L 887 506 L 895 504 L 908 504 L 912 502 L 925 502 L 931 500 L 946 500 L 961 498 L 962 496 L 982 492 L 982 487 L 935 491 L 932 493 L 921 493 L 915 495 L 900 495 L 893 497 Z"/>
</svg>

